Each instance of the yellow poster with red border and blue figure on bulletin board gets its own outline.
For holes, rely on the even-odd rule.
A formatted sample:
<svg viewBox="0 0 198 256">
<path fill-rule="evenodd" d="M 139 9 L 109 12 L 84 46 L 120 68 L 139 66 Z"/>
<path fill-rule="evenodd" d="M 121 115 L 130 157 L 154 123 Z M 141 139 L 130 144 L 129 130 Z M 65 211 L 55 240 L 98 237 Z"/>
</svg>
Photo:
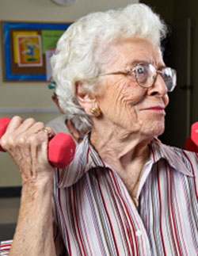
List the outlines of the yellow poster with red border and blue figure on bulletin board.
<svg viewBox="0 0 198 256">
<path fill-rule="evenodd" d="M 40 67 L 43 65 L 39 35 L 17 36 L 18 66 Z"/>
</svg>

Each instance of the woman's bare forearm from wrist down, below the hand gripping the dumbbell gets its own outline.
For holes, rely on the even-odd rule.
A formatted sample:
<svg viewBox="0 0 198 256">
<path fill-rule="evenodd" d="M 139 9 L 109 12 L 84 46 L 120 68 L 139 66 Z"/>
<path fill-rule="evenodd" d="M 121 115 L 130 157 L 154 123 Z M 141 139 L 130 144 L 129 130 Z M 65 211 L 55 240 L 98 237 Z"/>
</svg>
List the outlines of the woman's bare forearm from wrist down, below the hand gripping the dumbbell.
<svg viewBox="0 0 198 256">
<path fill-rule="evenodd" d="M 54 256 L 52 182 L 25 185 L 10 256 Z"/>
</svg>

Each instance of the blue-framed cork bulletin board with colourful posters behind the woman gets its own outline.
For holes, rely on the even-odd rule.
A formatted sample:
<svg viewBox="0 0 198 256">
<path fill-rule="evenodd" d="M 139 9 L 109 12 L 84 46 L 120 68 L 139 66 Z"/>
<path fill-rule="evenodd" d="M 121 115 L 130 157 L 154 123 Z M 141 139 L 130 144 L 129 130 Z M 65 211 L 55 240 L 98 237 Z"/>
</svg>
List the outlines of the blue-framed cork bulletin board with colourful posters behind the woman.
<svg viewBox="0 0 198 256">
<path fill-rule="evenodd" d="M 51 49 L 56 48 L 69 26 L 70 23 L 2 21 L 3 81 L 47 81 L 51 76 Z"/>
</svg>

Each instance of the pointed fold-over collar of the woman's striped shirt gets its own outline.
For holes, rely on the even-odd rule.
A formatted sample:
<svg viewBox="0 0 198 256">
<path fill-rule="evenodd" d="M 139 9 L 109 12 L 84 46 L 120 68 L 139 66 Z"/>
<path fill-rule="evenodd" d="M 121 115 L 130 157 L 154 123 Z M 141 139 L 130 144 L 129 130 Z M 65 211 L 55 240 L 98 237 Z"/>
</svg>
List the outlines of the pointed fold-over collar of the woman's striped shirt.
<svg viewBox="0 0 198 256">
<path fill-rule="evenodd" d="M 151 141 L 150 149 L 150 161 L 152 162 L 152 165 L 160 159 L 165 159 L 169 166 L 174 170 L 177 170 L 187 176 L 194 177 L 192 172 L 187 169 L 185 163 L 182 161 L 180 149 L 166 146 L 158 139 L 153 139 Z M 96 167 L 112 169 L 111 166 L 102 161 L 100 156 L 97 154 L 97 151 L 89 143 L 88 133 L 84 137 L 82 143 L 80 143 L 76 148 L 73 161 L 65 168 L 65 171 L 62 172 L 58 186 L 67 187 L 73 185 L 82 177 L 83 174 L 86 174 L 87 171 Z"/>
</svg>

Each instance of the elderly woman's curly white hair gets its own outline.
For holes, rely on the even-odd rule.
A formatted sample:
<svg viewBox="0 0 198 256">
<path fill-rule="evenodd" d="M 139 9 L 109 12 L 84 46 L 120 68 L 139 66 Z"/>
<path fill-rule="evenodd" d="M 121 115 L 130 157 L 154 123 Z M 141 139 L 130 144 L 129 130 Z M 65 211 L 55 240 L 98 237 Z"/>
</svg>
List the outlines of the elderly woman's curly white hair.
<svg viewBox="0 0 198 256">
<path fill-rule="evenodd" d="M 74 95 L 76 82 L 81 81 L 87 93 L 99 94 L 101 83 L 90 78 L 105 72 L 105 65 L 111 62 L 110 44 L 135 37 L 149 39 L 160 46 L 166 31 L 158 14 L 144 4 L 90 13 L 70 25 L 58 41 L 51 67 L 59 105 L 78 131 L 90 129 L 92 122 Z"/>
</svg>

